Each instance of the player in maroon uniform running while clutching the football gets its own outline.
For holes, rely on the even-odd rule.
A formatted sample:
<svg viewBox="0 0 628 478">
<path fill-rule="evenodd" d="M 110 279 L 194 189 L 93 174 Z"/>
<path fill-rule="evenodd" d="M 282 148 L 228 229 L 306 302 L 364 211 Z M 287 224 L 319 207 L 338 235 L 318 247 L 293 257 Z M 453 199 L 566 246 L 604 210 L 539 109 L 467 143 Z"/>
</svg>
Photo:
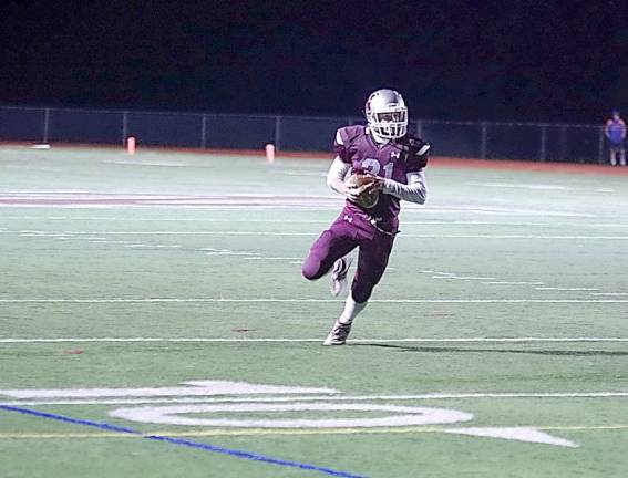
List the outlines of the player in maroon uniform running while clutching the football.
<svg viewBox="0 0 628 478">
<path fill-rule="evenodd" d="M 357 270 L 344 310 L 323 345 L 343 345 L 353 319 L 367 306 L 382 278 L 399 230 L 400 201 L 425 202 L 423 169 L 430 145 L 408 133 L 408 107 L 401 94 L 382 89 L 371 93 L 364 107 L 367 126 L 341 127 L 336 133 L 333 159 L 327 184 L 346 196 L 344 208 L 310 248 L 302 264 L 303 277 L 317 280 L 331 270 L 331 293 L 347 285 L 350 252 L 359 248 Z M 366 185 L 349 185 L 346 177 L 369 175 Z M 379 200 L 360 206 L 360 196 L 373 189 Z M 360 204 L 359 204 L 360 202 Z"/>
</svg>

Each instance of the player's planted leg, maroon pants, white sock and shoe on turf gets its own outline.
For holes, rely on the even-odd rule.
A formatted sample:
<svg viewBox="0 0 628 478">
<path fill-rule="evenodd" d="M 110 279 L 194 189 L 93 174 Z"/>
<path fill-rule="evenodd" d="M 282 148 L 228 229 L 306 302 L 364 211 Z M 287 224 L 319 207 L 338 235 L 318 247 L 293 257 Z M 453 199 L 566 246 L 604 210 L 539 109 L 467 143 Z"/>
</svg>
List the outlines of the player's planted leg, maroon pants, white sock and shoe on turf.
<svg viewBox="0 0 628 478">
<path fill-rule="evenodd" d="M 373 288 L 382 278 L 388 266 L 394 238 L 377 232 L 373 239 L 360 243 L 358 270 L 353 277 L 351 293 L 344 302 L 344 310 L 333 324 L 323 345 L 343 345 L 351 331 L 353 320 L 367 306 Z"/>
</svg>

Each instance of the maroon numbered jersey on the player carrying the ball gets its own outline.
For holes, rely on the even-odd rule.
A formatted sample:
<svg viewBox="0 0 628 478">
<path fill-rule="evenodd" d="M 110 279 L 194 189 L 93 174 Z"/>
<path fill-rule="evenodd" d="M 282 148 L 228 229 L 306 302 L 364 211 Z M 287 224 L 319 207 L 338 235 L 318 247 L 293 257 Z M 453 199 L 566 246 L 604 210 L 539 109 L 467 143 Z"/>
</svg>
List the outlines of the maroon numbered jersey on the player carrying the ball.
<svg viewBox="0 0 628 478">
<path fill-rule="evenodd" d="M 429 145 L 423 139 L 406 134 L 402 138 L 378 144 L 367 126 L 338 129 L 333 148 L 343 163 L 351 165 L 351 173 L 372 174 L 402 184 L 408 184 L 408 173 L 420 172 L 428 164 Z M 381 218 L 397 226 L 399 200 L 395 196 L 382 193 L 378 204 L 370 209 L 349 200 L 344 209 Z"/>
</svg>

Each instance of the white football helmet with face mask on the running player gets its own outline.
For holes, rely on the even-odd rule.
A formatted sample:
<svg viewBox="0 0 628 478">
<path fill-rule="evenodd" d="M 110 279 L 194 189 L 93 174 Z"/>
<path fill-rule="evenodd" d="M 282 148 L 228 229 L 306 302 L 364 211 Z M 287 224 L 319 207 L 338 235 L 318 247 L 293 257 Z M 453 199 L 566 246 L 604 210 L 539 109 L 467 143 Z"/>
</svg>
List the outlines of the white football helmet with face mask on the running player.
<svg viewBox="0 0 628 478">
<path fill-rule="evenodd" d="M 394 90 L 382 89 L 371 93 L 364 106 L 371 131 L 385 139 L 398 139 L 408 133 L 408 107 Z"/>
</svg>

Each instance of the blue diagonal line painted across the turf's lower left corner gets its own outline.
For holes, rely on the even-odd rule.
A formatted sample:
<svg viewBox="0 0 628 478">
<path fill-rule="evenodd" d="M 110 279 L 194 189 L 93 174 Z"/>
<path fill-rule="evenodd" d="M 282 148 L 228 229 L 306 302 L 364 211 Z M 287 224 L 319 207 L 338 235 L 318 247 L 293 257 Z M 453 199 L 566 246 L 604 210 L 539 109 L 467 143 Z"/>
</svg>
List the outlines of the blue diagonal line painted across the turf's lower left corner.
<svg viewBox="0 0 628 478">
<path fill-rule="evenodd" d="M 56 414 L 39 412 L 39 411 L 30 409 L 30 408 L 22 408 L 22 407 L 16 407 L 16 406 L 10 406 L 10 405 L 1 405 L 1 404 L 0 404 L 0 409 L 7 411 L 7 412 L 17 412 L 17 413 L 20 413 L 20 414 L 23 414 L 23 415 L 32 415 L 32 416 L 37 416 L 39 418 L 49 418 L 49 419 L 53 419 L 53 420 L 56 420 L 56 422 L 70 423 L 70 424 L 73 424 L 73 425 L 89 426 L 89 427 L 92 427 L 92 428 L 99 428 L 99 429 L 103 429 L 103 430 L 106 430 L 106 432 L 117 432 L 117 433 L 121 433 L 121 434 L 136 435 L 137 437 L 146 438 L 146 439 L 150 439 L 150 440 L 163 441 L 163 443 L 168 443 L 168 444 L 172 444 L 172 445 L 178 445 L 178 446 L 188 447 L 188 448 L 202 449 L 202 450 L 205 450 L 205 451 L 229 455 L 229 456 L 233 456 L 233 457 L 236 457 L 236 458 L 244 458 L 244 459 L 248 459 L 248 460 L 253 460 L 253 461 L 261 461 L 261 463 L 267 463 L 267 464 L 270 464 L 270 465 L 278 465 L 278 466 L 291 467 L 291 468 L 300 468 L 300 469 L 310 470 L 310 471 L 318 471 L 318 472 L 334 476 L 334 477 L 367 478 L 363 475 L 354 475 L 354 474 L 350 474 L 350 472 L 347 472 L 347 471 L 339 471 L 339 470 L 334 470 L 332 468 L 318 467 L 316 465 L 302 464 L 302 463 L 299 463 L 299 461 L 282 460 L 282 459 L 279 459 L 279 458 L 272 458 L 272 457 L 268 457 L 268 456 L 265 456 L 265 455 L 258 455 L 258 454 L 250 453 L 250 451 L 243 451 L 243 450 L 231 449 L 231 448 L 223 448 L 223 447 L 219 447 L 219 446 L 209 445 L 209 444 L 205 444 L 205 443 L 200 443 L 200 441 L 191 441 L 191 440 L 186 440 L 186 439 L 172 438 L 172 437 L 162 436 L 162 435 L 144 435 L 142 432 L 135 430 L 133 428 L 121 427 L 121 426 L 111 425 L 111 424 L 103 423 L 103 422 L 92 422 L 92 420 L 85 420 L 85 419 L 80 419 L 80 418 L 72 418 L 72 417 L 68 417 L 68 416 L 63 416 L 63 415 L 56 415 Z"/>
</svg>

